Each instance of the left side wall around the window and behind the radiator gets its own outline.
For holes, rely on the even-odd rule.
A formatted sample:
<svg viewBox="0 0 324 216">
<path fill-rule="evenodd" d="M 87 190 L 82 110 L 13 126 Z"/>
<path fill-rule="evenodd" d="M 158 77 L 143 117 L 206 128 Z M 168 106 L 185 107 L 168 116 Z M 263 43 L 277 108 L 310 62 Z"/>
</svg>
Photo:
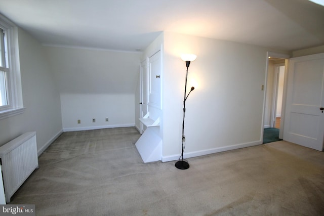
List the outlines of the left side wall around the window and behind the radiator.
<svg viewBox="0 0 324 216">
<path fill-rule="evenodd" d="M 0 145 L 36 131 L 38 154 L 62 132 L 60 96 L 41 44 L 18 28 L 25 113 L 0 120 Z"/>
</svg>

